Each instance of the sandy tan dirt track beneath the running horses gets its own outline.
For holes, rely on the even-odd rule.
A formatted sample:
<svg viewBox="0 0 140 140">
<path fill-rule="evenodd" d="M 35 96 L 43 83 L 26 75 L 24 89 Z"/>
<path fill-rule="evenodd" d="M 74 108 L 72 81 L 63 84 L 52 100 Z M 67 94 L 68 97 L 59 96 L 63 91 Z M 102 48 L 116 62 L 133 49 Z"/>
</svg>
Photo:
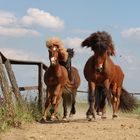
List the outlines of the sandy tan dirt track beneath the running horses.
<svg viewBox="0 0 140 140">
<path fill-rule="evenodd" d="M 0 140 L 140 140 L 140 116 L 122 115 L 89 122 L 77 114 L 69 122 L 25 124 L 11 129 Z"/>
</svg>

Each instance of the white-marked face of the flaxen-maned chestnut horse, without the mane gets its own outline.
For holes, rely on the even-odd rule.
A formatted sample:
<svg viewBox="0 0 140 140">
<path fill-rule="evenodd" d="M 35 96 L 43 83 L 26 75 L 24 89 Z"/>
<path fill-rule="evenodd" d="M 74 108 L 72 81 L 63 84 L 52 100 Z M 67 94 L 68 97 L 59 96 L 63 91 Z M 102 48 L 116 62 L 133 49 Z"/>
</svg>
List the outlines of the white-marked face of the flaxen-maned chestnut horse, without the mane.
<svg viewBox="0 0 140 140">
<path fill-rule="evenodd" d="M 58 64 L 58 47 L 57 46 L 51 46 L 49 48 L 49 60 L 51 65 Z"/>
</svg>

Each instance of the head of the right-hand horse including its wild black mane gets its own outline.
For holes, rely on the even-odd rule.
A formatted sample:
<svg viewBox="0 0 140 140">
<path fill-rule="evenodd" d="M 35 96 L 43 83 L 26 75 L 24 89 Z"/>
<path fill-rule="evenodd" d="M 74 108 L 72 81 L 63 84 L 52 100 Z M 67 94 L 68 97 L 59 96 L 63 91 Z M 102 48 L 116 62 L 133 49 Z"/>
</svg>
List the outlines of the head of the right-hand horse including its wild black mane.
<svg viewBox="0 0 140 140">
<path fill-rule="evenodd" d="M 94 51 L 94 66 L 98 72 L 104 68 L 107 56 L 115 55 L 112 37 L 105 31 L 98 31 L 87 37 L 81 44 L 82 47 L 90 47 Z"/>
</svg>

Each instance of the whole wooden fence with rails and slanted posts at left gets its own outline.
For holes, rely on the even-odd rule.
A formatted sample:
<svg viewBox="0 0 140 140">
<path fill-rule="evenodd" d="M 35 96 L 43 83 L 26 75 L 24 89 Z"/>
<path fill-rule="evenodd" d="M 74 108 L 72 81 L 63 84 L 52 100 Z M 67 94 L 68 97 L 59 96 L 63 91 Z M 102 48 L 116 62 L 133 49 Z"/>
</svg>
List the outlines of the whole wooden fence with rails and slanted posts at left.
<svg viewBox="0 0 140 140">
<path fill-rule="evenodd" d="M 28 86 L 28 87 L 19 87 L 11 65 L 36 65 L 38 66 L 38 85 Z M 5 96 L 7 97 L 7 93 L 9 93 L 8 91 L 10 89 L 10 86 L 8 85 L 7 76 L 4 70 L 4 66 L 7 71 L 8 78 L 12 86 L 12 90 L 13 90 L 12 92 L 15 94 L 15 97 L 18 103 L 22 106 L 23 101 L 21 98 L 20 91 L 38 89 L 38 108 L 42 112 L 44 108 L 43 70 L 47 70 L 48 67 L 42 62 L 7 59 L 0 52 L 0 68 L 1 68 L 0 69 L 0 84 L 1 84 L 4 98 Z"/>
</svg>

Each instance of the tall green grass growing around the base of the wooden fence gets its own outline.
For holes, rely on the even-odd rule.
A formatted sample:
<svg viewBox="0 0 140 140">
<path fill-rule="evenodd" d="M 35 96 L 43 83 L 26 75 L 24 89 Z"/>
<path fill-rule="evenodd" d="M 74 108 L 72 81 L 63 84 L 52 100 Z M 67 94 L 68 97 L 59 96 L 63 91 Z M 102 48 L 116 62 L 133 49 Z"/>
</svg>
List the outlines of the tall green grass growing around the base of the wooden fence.
<svg viewBox="0 0 140 140">
<path fill-rule="evenodd" d="M 18 105 L 15 105 L 15 117 L 6 117 L 6 109 L 4 104 L 0 106 L 0 132 L 4 132 L 11 127 L 20 127 L 26 122 L 34 122 L 41 118 L 41 113 L 38 111 L 36 100 L 25 102 L 26 110 L 22 110 Z"/>
</svg>

